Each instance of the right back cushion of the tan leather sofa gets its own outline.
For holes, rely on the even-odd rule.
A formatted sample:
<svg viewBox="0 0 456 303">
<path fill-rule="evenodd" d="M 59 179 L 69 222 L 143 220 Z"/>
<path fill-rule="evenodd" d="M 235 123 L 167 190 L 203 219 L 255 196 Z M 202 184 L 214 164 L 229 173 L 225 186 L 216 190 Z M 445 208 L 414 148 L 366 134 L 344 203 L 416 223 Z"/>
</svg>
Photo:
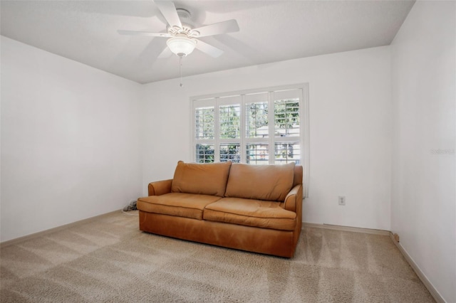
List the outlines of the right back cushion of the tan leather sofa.
<svg viewBox="0 0 456 303">
<path fill-rule="evenodd" d="M 232 164 L 226 197 L 284 201 L 293 186 L 294 163 L 283 165 Z"/>
</svg>

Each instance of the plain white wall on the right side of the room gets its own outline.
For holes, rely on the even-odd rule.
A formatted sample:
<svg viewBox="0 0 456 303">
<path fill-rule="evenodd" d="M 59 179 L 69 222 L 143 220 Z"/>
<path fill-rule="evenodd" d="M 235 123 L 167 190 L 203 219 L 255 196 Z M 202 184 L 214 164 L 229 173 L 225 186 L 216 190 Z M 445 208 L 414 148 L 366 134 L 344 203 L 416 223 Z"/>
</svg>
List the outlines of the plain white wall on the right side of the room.
<svg viewBox="0 0 456 303">
<path fill-rule="evenodd" d="M 391 46 L 391 228 L 446 302 L 456 302 L 455 4 L 417 1 Z"/>
</svg>

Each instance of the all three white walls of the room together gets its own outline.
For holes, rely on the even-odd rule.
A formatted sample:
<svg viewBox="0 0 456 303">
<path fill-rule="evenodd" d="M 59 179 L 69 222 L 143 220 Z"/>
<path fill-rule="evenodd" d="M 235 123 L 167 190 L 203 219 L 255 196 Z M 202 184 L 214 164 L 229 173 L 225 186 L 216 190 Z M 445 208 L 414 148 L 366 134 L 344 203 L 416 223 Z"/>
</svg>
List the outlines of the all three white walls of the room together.
<svg viewBox="0 0 456 303">
<path fill-rule="evenodd" d="M 304 221 L 393 230 L 456 302 L 455 5 L 418 1 L 391 47 L 192 76 L 182 89 L 1 37 L 0 241 L 119 209 L 171 178 L 192 161 L 190 96 L 309 83 Z"/>
</svg>

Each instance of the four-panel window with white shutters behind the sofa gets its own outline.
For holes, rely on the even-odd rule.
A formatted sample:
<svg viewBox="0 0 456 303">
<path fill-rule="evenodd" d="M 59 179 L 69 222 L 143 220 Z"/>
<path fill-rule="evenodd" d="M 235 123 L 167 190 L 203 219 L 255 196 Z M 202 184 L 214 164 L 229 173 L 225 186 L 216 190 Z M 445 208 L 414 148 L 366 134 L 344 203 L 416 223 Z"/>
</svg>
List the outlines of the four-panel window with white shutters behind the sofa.
<svg viewBox="0 0 456 303">
<path fill-rule="evenodd" d="M 308 169 L 306 93 L 304 84 L 193 97 L 195 161 L 294 162 Z"/>
</svg>

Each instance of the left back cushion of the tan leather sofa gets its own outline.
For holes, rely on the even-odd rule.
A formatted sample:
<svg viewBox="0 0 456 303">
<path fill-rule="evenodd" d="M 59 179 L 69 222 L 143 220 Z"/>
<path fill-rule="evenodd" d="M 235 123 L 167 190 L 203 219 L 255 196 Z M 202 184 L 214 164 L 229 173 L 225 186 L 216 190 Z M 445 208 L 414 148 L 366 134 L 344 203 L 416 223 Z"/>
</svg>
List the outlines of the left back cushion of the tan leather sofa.
<svg viewBox="0 0 456 303">
<path fill-rule="evenodd" d="M 222 197 L 227 188 L 231 164 L 232 162 L 197 164 L 179 161 L 172 179 L 171 191 Z"/>
</svg>

